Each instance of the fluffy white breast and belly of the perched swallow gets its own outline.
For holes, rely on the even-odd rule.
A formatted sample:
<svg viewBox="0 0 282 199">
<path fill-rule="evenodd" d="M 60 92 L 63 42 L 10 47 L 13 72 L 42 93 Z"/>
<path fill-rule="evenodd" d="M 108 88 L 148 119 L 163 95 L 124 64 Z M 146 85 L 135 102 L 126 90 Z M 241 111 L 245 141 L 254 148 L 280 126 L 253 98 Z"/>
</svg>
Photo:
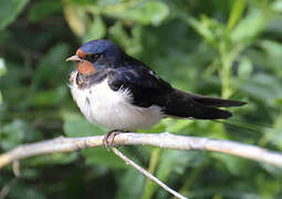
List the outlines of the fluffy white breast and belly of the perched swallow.
<svg viewBox="0 0 282 199">
<path fill-rule="evenodd" d="M 84 90 L 73 83 L 71 92 L 84 116 L 91 123 L 108 129 L 148 128 L 163 118 L 159 106 L 138 107 L 132 105 L 130 92 L 123 88 L 114 92 L 108 86 L 107 78 Z"/>
</svg>

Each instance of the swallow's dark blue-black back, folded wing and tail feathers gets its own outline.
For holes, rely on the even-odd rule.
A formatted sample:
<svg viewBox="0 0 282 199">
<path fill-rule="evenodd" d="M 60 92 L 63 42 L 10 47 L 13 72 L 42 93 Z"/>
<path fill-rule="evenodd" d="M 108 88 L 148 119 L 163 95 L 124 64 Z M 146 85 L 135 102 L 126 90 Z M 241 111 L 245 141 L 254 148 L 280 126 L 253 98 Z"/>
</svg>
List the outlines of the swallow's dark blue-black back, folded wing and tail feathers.
<svg viewBox="0 0 282 199">
<path fill-rule="evenodd" d="M 117 91 L 130 91 L 133 104 L 140 107 L 157 105 L 164 114 L 198 119 L 229 118 L 231 113 L 218 107 L 241 106 L 240 101 L 195 95 L 173 88 L 154 71 L 137 60 L 125 62 L 123 67 L 108 73 L 108 85 Z"/>
</svg>

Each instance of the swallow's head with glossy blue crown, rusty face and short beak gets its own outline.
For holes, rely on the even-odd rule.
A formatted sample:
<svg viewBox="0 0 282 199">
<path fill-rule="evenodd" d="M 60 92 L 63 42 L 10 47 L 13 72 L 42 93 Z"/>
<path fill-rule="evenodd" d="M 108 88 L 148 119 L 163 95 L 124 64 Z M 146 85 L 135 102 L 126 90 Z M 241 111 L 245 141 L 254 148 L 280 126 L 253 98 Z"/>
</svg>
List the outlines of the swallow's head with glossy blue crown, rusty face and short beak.
<svg viewBox="0 0 282 199">
<path fill-rule="evenodd" d="M 91 75 L 96 71 L 116 67 L 121 62 L 123 51 L 108 40 L 90 41 L 76 51 L 75 55 L 66 59 L 77 63 L 81 74 Z"/>
</svg>

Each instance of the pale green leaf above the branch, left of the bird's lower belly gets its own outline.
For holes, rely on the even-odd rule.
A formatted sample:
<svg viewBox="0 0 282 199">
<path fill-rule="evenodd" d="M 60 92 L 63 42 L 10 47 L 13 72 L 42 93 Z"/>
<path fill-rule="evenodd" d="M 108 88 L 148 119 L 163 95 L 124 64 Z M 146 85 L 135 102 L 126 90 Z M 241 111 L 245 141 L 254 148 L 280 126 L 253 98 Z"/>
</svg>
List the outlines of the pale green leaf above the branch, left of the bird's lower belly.
<svg viewBox="0 0 282 199">
<path fill-rule="evenodd" d="M 63 112 L 61 115 L 64 121 L 63 129 L 67 137 L 94 136 L 105 133 L 104 129 L 87 122 L 81 114 Z"/>
</svg>

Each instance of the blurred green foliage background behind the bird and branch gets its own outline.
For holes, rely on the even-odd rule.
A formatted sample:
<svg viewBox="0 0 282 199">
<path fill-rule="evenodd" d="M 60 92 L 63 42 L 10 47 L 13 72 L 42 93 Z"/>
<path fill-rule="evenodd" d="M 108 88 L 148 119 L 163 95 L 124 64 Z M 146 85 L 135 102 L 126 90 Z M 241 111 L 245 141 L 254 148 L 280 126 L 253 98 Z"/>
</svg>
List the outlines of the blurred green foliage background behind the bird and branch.
<svg viewBox="0 0 282 199">
<path fill-rule="evenodd" d="M 282 151 L 282 0 L 2 0 L 0 151 L 106 130 L 80 113 L 65 63 L 107 38 L 177 88 L 247 101 L 229 123 L 164 119 L 168 130 Z M 121 147 L 190 198 L 282 198 L 282 170 L 207 151 Z M 104 148 L 21 161 L 0 171 L 0 198 L 171 198 Z"/>
</svg>

